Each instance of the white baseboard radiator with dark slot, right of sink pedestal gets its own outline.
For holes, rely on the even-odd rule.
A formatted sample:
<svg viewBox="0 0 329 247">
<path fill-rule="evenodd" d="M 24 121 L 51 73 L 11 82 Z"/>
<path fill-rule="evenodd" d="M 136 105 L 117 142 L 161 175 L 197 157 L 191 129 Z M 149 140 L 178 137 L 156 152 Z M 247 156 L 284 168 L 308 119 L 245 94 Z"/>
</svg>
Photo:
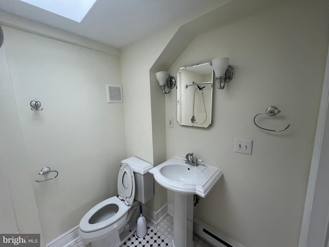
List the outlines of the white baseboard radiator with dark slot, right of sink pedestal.
<svg viewBox="0 0 329 247">
<path fill-rule="evenodd" d="M 236 240 L 225 236 L 223 233 L 213 230 L 212 227 L 199 219 L 194 219 L 193 232 L 216 247 L 245 247 Z"/>
</svg>

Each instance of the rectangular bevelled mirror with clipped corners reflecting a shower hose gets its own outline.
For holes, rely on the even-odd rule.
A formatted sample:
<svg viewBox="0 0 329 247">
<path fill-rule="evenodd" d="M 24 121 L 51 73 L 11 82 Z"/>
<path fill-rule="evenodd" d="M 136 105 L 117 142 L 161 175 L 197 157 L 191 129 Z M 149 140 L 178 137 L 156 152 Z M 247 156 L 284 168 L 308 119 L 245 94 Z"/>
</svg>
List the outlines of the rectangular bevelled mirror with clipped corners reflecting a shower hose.
<svg viewBox="0 0 329 247">
<path fill-rule="evenodd" d="M 213 69 L 210 62 L 181 67 L 177 72 L 177 121 L 207 128 L 212 116 Z"/>
</svg>

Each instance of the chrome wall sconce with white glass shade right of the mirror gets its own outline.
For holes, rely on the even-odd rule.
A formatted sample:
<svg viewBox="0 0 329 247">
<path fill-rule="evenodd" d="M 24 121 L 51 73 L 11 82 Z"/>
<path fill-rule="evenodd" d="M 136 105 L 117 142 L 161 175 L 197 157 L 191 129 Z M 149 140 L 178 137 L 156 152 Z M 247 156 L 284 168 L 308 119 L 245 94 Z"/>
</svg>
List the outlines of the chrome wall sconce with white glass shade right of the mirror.
<svg viewBox="0 0 329 247">
<path fill-rule="evenodd" d="M 229 58 L 216 58 L 211 61 L 218 82 L 217 89 L 224 89 L 225 83 L 232 80 L 234 76 L 234 69 L 228 65 L 228 61 Z"/>
</svg>

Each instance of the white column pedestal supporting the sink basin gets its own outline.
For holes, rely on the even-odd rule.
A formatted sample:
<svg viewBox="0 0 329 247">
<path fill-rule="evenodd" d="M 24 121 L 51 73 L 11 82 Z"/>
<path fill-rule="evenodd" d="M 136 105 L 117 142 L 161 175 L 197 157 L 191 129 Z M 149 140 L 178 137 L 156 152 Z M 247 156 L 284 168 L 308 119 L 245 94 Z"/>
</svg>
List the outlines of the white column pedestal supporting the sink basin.
<svg viewBox="0 0 329 247">
<path fill-rule="evenodd" d="M 173 247 L 193 246 L 193 195 L 174 193 Z"/>
</svg>

